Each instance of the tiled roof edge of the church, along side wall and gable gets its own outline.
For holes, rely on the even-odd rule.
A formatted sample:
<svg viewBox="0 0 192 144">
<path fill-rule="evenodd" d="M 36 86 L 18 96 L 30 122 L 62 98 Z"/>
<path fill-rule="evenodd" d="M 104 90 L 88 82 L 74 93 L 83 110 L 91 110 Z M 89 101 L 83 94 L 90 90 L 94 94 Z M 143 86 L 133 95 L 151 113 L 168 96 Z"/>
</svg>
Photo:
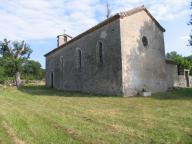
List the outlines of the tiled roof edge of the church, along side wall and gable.
<svg viewBox="0 0 192 144">
<path fill-rule="evenodd" d="M 124 18 L 124 17 L 127 17 L 127 16 L 131 16 L 131 15 L 133 15 L 133 14 L 135 14 L 135 13 L 138 13 L 138 12 L 141 12 L 141 11 L 145 11 L 145 12 L 148 14 L 148 16 L 151 17 L 151 19 L 152 19 L 152 20 L 155 22 L 155 24 L 159 27 L 159 29 L 160 29 L 162 32 L 165 32 L 165 29 L 164 29 L 164 28 L 159 24 L 159 22 L 150 14 L 150 12 L 149 12 L 144 6 L 141 6 L 141 7 L 137 7 L 137 8 L 134 8 L 134 9 L 132 9 L 132 10 L 129 10 L 129 11 L 120 12 L 120 13 L 115 14 L 114 16 L 112 16 L 112 17 L 110 17 L 110 18 L 102 21 L 101 23 L 97 24 L 96 26 L 94 26 L 94 27 L 90 28 L 89 30 L 81 33 L 80 35 L 74 37 L 73 39 L 71 39 L 71 40 L 68 41 L 67 43 L 59 46 L 58 48 L 53 49 L 52 51 L 50 51 L 49 53 L 45 54 L 44 56 L 47 57 L 48 55 L 54 53 L 55 51 L 57 51 L 57 50 L 59 50 L 59 49 L 61 49 L 61 48 L 63 48 L 64 46 L 66 46 L 66 45 L 68 45 L 68 44 L 70 44 L 70 43 L 72 43 L 72 42 L 74 42 L 74 41 L 82 38 L 83 36 L 85 36 L 85 35 L 93 32 L 93 31 L 95 31 L 95 30 L 97 30 L 97 29 L 99 29 L 99 28 L 101 28 L 101 27 L 103 27 L 103 26 L 105 26 L 105 25 L 107 25 L 107 24 L 109 24 L 109 23 L 111 23 L 111 22 L 113 22 L 113 21 L 116 20 L 116 19 Z"/>
</svg>

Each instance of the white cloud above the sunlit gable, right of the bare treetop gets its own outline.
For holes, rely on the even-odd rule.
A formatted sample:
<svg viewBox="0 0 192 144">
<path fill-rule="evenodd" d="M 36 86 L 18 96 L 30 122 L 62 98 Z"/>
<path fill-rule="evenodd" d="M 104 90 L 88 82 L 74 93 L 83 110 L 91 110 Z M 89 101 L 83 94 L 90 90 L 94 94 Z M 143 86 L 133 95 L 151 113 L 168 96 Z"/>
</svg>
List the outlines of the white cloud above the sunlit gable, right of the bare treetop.
<svg viewBox="0 0 192 144">
<path fill-rule="evenodd" d="M 114 0 L 111 4 L 115 12 L 145 5 L 158 20 L 173 20 L 189 12 L 190 0 Z"/>
</svg>

